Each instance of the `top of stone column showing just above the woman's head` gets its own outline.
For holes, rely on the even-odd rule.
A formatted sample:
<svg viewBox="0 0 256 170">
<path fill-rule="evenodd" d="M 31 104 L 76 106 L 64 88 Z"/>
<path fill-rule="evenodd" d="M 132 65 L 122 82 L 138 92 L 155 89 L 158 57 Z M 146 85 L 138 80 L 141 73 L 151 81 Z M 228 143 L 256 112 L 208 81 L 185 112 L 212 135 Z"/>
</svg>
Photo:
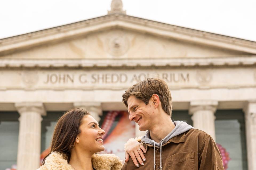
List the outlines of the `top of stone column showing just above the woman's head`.
<svg viewBox="0 0 256 170">
<path fill-rule="evenodd" d="M 74 108 L 87 110 L 97 122 L 101 120 L 99 116 L 102 116 L 102 107 L 99 102 L 75 102 Z"/>
</svg>

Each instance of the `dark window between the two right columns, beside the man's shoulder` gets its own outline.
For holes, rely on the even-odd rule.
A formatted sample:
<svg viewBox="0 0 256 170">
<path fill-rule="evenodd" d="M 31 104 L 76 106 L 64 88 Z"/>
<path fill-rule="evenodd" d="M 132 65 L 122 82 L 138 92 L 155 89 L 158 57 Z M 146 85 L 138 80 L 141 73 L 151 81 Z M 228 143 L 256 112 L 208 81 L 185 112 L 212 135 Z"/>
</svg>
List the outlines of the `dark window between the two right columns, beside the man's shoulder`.
<svg viewBox="0 0 256 170">
<path fill-rule="evenodd" d="M 216 142 L 226 149 L 230 158 L 227 169 L 247 170 L 244 113 L 242 110 L 217 110 L 215 116 Z"/>
</svg>

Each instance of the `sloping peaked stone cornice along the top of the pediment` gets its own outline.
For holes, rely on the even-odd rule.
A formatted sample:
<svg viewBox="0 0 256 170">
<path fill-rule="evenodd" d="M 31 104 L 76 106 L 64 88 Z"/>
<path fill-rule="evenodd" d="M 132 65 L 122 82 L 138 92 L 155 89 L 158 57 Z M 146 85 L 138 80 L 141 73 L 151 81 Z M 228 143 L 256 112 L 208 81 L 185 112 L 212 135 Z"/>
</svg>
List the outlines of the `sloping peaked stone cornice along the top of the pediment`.
<svg viewBox="0 0 256 170">
<path fill-rule="evenodd" d="M 30 48 L 47 42 L 75 38 L 91 32 L 108 30 L 111 28 L 129 29 L 166 38 L 185 40 L 204 45 L 216 46 L 219 48 L 256 54 L 256 42 L 254 41 L 115 13 L 59 27 L 0 39 L 0 55 L 6 55 L 17 51 L 18 49 Z"/>
</svg>

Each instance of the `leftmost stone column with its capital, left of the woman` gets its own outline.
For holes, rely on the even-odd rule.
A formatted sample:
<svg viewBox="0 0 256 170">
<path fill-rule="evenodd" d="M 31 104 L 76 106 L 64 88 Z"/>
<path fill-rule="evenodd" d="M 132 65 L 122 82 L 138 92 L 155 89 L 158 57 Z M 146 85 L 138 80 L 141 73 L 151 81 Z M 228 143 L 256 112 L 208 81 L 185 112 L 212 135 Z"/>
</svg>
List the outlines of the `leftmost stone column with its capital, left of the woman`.
<svg viewBox="0 0 256 170">
<path fill-rule="evenodd" d="M 15 103 L 19 117 L 18 170 L 35 170 L 40 166 L 41 121 L 46 116 L 42 103 Z"/>
</svg>

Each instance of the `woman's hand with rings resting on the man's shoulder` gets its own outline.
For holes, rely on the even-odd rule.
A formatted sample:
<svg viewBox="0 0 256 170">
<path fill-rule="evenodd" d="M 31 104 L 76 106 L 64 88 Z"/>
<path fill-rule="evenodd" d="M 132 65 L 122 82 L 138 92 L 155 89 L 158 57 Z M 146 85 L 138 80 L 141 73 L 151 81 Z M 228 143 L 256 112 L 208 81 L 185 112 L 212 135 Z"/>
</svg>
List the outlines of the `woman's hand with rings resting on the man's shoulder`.
<svg viewBox="0 0 256 170">
<path fill-rule="evenodd" d="M 125 162 L 127 162 L 131 156 L 135 166 L 139 167 L 139 164 L 144 165 L 143 161 L 146 161 L 146 158 L 143 152 L 146 153 L 146 149 L 141 143 L 133 138 L 129 139 L 125 144 Z"/>
</svg>

